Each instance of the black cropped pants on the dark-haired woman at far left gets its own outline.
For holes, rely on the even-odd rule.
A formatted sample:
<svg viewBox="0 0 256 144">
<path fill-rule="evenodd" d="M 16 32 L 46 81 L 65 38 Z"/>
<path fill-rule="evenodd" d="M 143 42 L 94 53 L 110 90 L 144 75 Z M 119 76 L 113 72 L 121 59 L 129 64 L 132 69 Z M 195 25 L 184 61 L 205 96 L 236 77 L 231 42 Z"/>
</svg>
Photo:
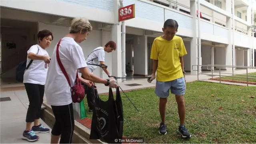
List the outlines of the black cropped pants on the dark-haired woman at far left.
<svg viewBox="0 0 256 144">
<path fill-rule="evenodd" d="M 44 85 L 31 83 L 24 83 L 24 85 L 29 100 L 26 122 L 34 122 L 35 119 L 40 118 L 44 98 Z"/>
</svg>

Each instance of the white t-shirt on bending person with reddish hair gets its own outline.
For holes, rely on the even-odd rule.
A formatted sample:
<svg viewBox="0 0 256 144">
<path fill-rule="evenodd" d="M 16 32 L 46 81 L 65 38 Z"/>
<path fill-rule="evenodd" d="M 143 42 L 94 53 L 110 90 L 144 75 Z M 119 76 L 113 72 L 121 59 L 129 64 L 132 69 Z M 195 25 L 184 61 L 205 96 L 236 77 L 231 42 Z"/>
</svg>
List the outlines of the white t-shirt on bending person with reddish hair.
<svg viewBox="0 0 256 144">
<path fill-rule="evenodd" d="M 101 46 L 95 48 L 86 59 L 89 71 L 92 73 L 97 67 L 99 67 L 90 64 L 100 64 L 100 62 L 105 62 L 105 51 Z"/>
</svg>

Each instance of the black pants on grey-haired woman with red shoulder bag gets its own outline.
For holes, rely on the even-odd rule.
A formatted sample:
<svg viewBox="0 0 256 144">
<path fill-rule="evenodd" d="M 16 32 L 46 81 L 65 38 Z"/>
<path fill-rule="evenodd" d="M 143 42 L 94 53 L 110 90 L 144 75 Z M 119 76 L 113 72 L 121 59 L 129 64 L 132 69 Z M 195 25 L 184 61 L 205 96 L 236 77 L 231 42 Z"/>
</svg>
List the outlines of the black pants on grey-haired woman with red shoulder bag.
<svg viewBox="0 0 256 144">
<path fill-rule="evenodd" d="M 52 135 L 61 135 L 60 144 L 71 144 L 75 126 L 73 104 L 52 106 L 52 112 L 55 117 Z"/>
</svg>

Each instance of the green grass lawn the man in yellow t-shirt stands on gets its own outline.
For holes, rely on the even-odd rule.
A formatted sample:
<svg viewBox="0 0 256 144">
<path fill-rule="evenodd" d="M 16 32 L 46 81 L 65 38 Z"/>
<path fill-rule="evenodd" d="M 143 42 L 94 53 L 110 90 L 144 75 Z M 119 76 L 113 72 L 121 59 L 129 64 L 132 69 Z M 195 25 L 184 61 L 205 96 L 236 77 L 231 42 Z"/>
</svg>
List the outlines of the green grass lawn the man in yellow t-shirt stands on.
<svg viewBox="0 0 256 144">
<path fill-rule="evenodd" d="M 178 109 L 174 95 L 166 104 L 167 134 L 160 135 L 158 97 L 154 88 L 122 94 L 124 136 L 142 137 L 144 143 L 256 143 L 256 87 L 219 83 L 187 83 L 186 128 L 192 134 L 183 140 L 178 134 Z M 214 96 L 213 96 L 214 95 Z M 102 100 L 108 96 L 101 95 Z M 87 102 L 85 102 L 86 108 Z M 87 114 L 92 118 L 92 114 Z"/>
</svg>

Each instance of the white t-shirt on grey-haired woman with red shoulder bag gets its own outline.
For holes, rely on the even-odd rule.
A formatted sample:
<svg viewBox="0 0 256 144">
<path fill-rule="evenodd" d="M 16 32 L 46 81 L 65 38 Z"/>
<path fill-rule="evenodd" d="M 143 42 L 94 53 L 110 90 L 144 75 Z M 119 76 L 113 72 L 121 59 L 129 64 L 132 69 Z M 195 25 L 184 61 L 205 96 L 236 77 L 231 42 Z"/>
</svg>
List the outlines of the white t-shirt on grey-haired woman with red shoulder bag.
<svg viewBox="0 0 256 144">
<path fill-rule="evenodd" d="M 54 48 L 45 84 L 47 103 L 52 106 L 63 106 L 72 103 L 68 80 L 60 69 Z M 79 68 L 87 67 L 82 48 L 73 38 L 62 38 L 59 46 L 59 56 L 70 79 L 71 87 L 74 86 L 76 72 Z"/>
</svg>

